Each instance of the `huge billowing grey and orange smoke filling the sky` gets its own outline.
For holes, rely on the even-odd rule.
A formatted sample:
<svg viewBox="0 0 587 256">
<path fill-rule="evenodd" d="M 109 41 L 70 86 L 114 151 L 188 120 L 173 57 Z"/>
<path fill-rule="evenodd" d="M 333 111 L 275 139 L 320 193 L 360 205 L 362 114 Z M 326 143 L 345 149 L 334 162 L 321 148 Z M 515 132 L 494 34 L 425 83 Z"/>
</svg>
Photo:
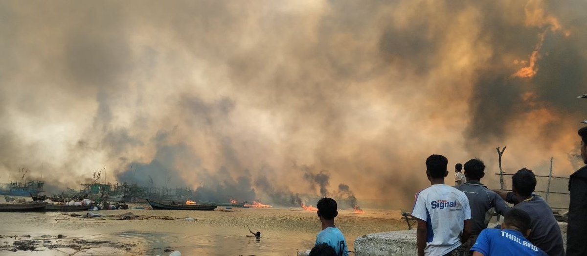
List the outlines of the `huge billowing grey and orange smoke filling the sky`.
<svg viewBox="0 0 587 256">
<path fill-rule="evenodd" d="M 497 146 L 507 171 L 545 173 L 553 156 L 566 176 L 587 117 L 585 13 L 538 0 L 1 2 L 0 182 L 43 166 L 48 187 L 76 188 L 106 167 L 106 181 L 150 176 L 215 200 L 296 206 L 348 184 L 362 206 L 406 207 L 427 156 L 479 157 L 491 173 Z"/>
</svg>

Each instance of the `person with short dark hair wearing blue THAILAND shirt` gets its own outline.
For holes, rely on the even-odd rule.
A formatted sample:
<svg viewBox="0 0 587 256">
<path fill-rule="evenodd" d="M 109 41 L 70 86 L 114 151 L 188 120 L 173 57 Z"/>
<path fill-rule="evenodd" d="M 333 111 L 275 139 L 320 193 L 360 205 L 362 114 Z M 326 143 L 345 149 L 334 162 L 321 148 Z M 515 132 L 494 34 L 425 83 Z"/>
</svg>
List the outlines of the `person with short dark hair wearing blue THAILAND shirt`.
<svg viewBox="0 0 587 256">
<path fill-rule="evenodd" d="M 471 248 L 473 256 L 515 255 L 544 256 L 546 253 L 532 244 L 526 237 L 530 235 L 530 215 L 520 209 L 505 213 L 501 230 L 487 228 L 481 231 Z"/>
</svg>

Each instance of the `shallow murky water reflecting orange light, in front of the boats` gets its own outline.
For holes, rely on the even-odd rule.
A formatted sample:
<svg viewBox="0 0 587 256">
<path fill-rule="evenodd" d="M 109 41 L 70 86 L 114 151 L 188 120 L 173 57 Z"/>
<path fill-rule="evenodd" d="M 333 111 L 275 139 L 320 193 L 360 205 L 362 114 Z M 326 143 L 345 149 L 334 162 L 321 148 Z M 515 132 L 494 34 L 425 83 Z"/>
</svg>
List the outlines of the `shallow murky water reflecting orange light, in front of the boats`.
<svg viewBox="0 0 587 256">
<path fill-rule="evenodd" d="M 159 215 L 181 220 L 111 220 L 75 218 L 62 213 L 0 213 L 0 235 L 67 235 L 86 240 L 109 240 L 136 244 L 129 254 L 167 255 L 163 250 L 183 255 L 296 255 L 296 250 L 312 248 L 321 224 L 315 212 L 302 208 L 234 208 L 237 212 L 111 210 L 99 214 Z M 400 211 L 366 210 L 354 214 L 339 211 L 336 225 L 345 235 L 349 250 L 357 236 L 406 229 Z M 86 214 L 86 212 L 79 212 Z M 183 218 L 195 218 L 189 221 Z M 261 239 L 245 237 L 247 225 L 261 231 Z M 52 250 L 0 252 L 10 255 L 55 255 Z"/>
</svg>

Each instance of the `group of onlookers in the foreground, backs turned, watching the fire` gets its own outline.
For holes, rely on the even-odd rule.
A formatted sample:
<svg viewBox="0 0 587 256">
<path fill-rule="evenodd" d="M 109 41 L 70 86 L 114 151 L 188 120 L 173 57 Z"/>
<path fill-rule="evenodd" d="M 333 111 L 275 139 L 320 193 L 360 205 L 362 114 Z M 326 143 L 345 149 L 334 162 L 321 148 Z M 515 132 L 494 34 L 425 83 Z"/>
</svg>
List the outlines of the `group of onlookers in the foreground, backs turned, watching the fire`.
<svg viewBox="0 0 587 256">
<path fill-rule="evenodd" d="M 578 133 L 581 157 L 587 164 L 587 127 Z M 501 191 L 481 183 L 485 165 L 479 159 L 455 166 L 454 187 L 444 183 L 447 166 L 444 156 L 433 154 L 426 159 L 431 186 L 416 194 L 411 212 L 417 221 L 418 255 L 565 255 L 552 209 L 534 193 L 536 177 L 531 170 L 518 170 L 512 176 L 511 191 Z M 587 255 L 587 166 L 571 175 L 569 192 L 566 255 Z M 336 201 L 322 198 L 316 207 L 322 231 L 309 255 L 348 255 L 345 237 L 334 225 Z M 488 228 L 494 212 L 504 221 Z"/>
</svg>

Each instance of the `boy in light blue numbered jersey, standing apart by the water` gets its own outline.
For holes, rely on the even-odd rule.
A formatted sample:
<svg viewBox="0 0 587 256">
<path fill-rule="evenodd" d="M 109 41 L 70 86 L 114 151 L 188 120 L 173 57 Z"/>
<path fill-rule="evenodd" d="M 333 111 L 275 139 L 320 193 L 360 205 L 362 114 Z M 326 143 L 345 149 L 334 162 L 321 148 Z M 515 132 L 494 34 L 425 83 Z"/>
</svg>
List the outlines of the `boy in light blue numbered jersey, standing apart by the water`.
<svg viewBox="0 0 587 256">
<path fill-rule="evenodd" d="M 337 256 L 349 256 L 345 236 L 334 225 L 334 218 L 338 215 L 336 201 L 325 197 L 318 201 L 316 207 L 318 208 L 318 217 L 322 223 L 322 231 L 316 235 L 315 245 L 326 243 L 334 248 Z"/>
</svg>

